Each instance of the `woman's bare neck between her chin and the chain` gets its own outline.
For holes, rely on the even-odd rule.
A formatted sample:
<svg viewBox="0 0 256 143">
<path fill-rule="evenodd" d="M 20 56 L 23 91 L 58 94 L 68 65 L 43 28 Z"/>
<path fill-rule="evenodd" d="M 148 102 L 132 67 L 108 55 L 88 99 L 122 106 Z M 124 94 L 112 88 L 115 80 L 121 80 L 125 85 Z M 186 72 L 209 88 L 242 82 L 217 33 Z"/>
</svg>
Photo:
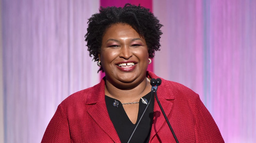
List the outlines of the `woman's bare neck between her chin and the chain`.
<svg viewBox="0 0 256 143">
<path fill-rule="evenodd" d="M 127 102 L 138 102 L 141 97 L 148 94 L 151 91 L 150 80 L 145 77 L 142 82 L 140 82 L 137 86 L 120 89 L 113 84 L 111 84 L 108 80 L 106 80 L 105 85 L 105 95 L 118 99 L 122 103 Z"/>
</svg>

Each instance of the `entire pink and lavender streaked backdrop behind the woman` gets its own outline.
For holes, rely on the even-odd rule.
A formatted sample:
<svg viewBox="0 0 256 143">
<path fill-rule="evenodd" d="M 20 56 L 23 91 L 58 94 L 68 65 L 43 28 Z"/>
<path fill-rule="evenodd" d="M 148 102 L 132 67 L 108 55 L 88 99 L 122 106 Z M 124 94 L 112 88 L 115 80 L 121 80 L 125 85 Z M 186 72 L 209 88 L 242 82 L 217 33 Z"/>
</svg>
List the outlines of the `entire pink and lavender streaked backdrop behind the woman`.
<svg viewBox="0 0 256 143">
<path fill-rule="evenodd" d="M 85 47 L 87 19 L 100 5 L 126 1 L 0 1 L 0 138 L 40 142 L 58 104 L 101 78 Z M 164 25 L 152 70 L 197 92 L 225 142 L 255 142 L 256 1 L 127 2 L 151 7 Z"/>
</svg>

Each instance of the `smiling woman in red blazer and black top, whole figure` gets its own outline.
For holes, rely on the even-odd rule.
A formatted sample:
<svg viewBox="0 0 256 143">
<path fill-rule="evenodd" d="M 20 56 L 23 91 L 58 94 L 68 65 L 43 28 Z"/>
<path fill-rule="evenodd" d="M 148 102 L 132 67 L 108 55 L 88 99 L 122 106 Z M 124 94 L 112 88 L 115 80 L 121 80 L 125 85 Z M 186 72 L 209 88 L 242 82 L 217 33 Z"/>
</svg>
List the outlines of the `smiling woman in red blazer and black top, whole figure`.
<svg viewBox="0 0 256 143">
<path fill-rule="evenodd" d="M 147 71 L 160 47 L 158 19 L 148 9 L 126 4 L 100 8 L 88 21 L 90 56 L 106 76 L 70 95 L 57 108 L 42 142 L 175 142 L 154 96 Z M 224 142 L 199 96 L 162 79 L 158 98 L 179 142 Z"/>
</svg>

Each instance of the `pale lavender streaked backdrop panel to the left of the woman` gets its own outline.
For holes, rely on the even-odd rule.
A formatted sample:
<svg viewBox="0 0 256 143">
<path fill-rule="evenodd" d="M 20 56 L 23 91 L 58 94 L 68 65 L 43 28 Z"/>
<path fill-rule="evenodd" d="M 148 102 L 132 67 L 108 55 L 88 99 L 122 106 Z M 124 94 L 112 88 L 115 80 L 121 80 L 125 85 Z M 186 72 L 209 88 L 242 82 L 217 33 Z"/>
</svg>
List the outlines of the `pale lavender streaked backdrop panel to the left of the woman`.
<svg viewBox="0 0 256 143">
<path fill-rule="evenodd" d="M 84 41 L 98 8 L 94 0 L 2 1 L 5 142 L 40 142 L 58 104 L 99 82 Z"/>
</svg>

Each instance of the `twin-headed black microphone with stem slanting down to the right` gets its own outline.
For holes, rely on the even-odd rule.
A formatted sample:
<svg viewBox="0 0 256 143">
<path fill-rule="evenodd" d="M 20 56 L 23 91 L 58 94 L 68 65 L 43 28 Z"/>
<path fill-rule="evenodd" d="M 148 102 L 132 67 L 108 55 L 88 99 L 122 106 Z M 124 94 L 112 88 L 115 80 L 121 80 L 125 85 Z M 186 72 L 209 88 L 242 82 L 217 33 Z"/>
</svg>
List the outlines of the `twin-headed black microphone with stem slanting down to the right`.
<svg viewBox="0 0 256 143">
<path fill-rule="evenodd" d="M 153 89 L 153 85 L 154 85 L 154 84 L 156 85 L 156 86 L 154 86 L 154 87 L 155 87 L 155 88 L 154 88 L 155 91 L 157 90 L 157 87 L 158 87 L 159 85 L 161 85 L 161 83 L 162 83 L 162 80 L 161 80 L 160 78 L 158 78 L 158 79 L 156 79 L 156 80 L 154 79 L 154 80 L 152 81 L 152 84 L 151 84 L 151 81 L 150 81 L 150 84 L 152 85 L 152 89 Z M 152 89 L 151 89 L 151 90 L 152 90 Z M 154 92 L 154 93 L 155 93 L 155 97 L 156 97 L 157 103 L 158 103 L 158 105 L 159 105 L 159 107 L 160 107 L 160 109 L 161 109 L 161 111 L 162 111 L 162 113 L 163 113 L 163 116 L 164 116 L 164 118 L 165 118 L 165 120 L 166 120 L 166 122 L 167 122 L 167 124 L 168 124 L 168 126 L 169 126 L 169 128 L 170 128 L 170 130 L 171 130 L 171 132 L 172 132 L 172 134 L 173 134 L 173 137 L 174 137 L 176 143 L 179 143 L 179 141 L 178 141 L 178 139 L 177 139 L 177 137 L 176 137 L 176 135 L 175 135 L 175 133 L 174 133 L 174 131 L 173 131 L 173 128 L 172 128 L 172 126 L 171 126 L 171 124 L 170 124 L 170 122 L 169 122 L 169 120 L 168 120 L 166 114 L 164 113 L 163 108 L 162 108 L 162 106 L 161 106 L 159 100 L 158 100 L 157 92 Z"/>
</svg>

